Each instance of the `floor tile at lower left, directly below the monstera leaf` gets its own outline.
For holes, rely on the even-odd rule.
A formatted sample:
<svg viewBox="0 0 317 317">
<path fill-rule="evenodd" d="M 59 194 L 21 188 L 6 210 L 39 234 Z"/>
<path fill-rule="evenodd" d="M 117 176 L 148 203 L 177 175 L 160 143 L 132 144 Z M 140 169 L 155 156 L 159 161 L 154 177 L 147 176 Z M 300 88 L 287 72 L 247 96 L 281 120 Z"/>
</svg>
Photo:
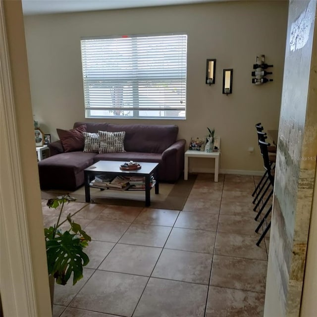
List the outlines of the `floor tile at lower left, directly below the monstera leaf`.
<svg viewBox="0 0 317 317">
<path fill-rule="evenodd" d="M 84 286 L 87 280 L 91 277 L 95 270 L 90 268 L 83 269 L 83 278 L 73 285 L 73 276 L 70 277 L 66 285 L 54 285 L 53 303 L 56 305 L 67 306 L 76 296 L 80 289 Z"/>
</svg>

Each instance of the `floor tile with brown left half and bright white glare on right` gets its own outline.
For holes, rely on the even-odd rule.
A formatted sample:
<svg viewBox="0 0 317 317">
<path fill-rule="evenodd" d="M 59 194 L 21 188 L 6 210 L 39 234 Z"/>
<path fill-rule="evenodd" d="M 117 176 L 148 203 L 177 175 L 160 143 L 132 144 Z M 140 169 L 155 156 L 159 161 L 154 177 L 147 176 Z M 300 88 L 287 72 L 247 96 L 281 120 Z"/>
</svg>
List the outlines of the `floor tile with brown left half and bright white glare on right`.
<svg viewBox="0 0 317 317">
<path fill-rule="evenodd" d="M 145 208 L 133 223 L 153 224 L 172 227 L 179 211 Z"/>
</svg>

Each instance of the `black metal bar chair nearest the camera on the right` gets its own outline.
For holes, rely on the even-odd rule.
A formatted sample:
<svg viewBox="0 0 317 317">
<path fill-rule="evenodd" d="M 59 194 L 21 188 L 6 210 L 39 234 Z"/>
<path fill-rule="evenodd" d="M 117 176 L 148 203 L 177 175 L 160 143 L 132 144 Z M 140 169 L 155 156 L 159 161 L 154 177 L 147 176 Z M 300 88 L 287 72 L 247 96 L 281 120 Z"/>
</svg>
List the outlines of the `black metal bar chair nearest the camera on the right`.
<svg viewBox="0 0 317 317">
<path fill-rule="evenodd" d="M 263 203 L 263 206 L 261 207 L 260 211 L 258 212 L 257 216 L 255 217 L 255 220 L 258 220 L 260 214 L 264 210 L 266 204 L 268 203 L 268 201 L 269 201 L 269 199 L 272 196 L 273 191 L 274 191 L 274 170 L 271 167 L 271 162 L 270 162 L 269 156 L 268 156 L 268 147 L 270 146 L 270 144 L 266 143 L 265 140 L 259 140 L 259 145 L 260 145 L 261 154 L 262 154 L 262 157 L 263 157 L 264 169 L 266 171 L 267 179 L 269 181 L 268 187 L 271 187 L 271 191 L 268 194 L 268 196 L 267 196 L 265 202 Z M 260 221 L 258 227 L 255 230 L 256 232 L 258 232 L 260 230 L 260 228 L 262 227 L 262 225 L 264 224 L 264 222 L 266 222 L 266 218 L 270 214 L 271 211 L 272 211 L 272 205 L 270 205 L 270 207 L 266 211 L 264 217 Z M 260 245 L 261 241 L 263 240 L 263 238 L 264 238 L 265 234 L 267 233 L 267 231 L 269 230 L 270 226 L 271 226 L 271 221 L 269 221 L 267 223 L 267 225 L 266 225 L 266 227 L 265 227 L 260 239 L 257 242 L 257 246 Z"/>
</svg>

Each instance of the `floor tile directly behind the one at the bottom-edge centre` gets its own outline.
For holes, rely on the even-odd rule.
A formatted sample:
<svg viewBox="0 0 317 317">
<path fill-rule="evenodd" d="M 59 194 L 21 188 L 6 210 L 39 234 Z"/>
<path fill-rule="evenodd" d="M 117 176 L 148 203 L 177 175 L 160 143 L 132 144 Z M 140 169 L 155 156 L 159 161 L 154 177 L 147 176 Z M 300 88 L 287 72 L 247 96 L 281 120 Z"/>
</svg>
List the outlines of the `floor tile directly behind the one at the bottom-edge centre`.
<svg viewBox="0 0 317 317">
<path fill-rule="evenodd" d="M 152 277 L 208 284 L 212 255 L 164 249 Z"/>
</svg>

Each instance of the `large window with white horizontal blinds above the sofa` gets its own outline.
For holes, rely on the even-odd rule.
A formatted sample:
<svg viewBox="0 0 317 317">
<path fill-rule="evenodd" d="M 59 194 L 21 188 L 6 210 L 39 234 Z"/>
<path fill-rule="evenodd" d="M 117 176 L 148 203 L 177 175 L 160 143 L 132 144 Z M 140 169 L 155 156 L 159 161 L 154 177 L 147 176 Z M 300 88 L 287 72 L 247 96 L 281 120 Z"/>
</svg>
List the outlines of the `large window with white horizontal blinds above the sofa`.
<svg viewBox="0 0 317 317">
<path fill-rule="evenodd" d="M 86 118 L 185 118 L 187 35 L 81 40 Z"/>
</svg>

